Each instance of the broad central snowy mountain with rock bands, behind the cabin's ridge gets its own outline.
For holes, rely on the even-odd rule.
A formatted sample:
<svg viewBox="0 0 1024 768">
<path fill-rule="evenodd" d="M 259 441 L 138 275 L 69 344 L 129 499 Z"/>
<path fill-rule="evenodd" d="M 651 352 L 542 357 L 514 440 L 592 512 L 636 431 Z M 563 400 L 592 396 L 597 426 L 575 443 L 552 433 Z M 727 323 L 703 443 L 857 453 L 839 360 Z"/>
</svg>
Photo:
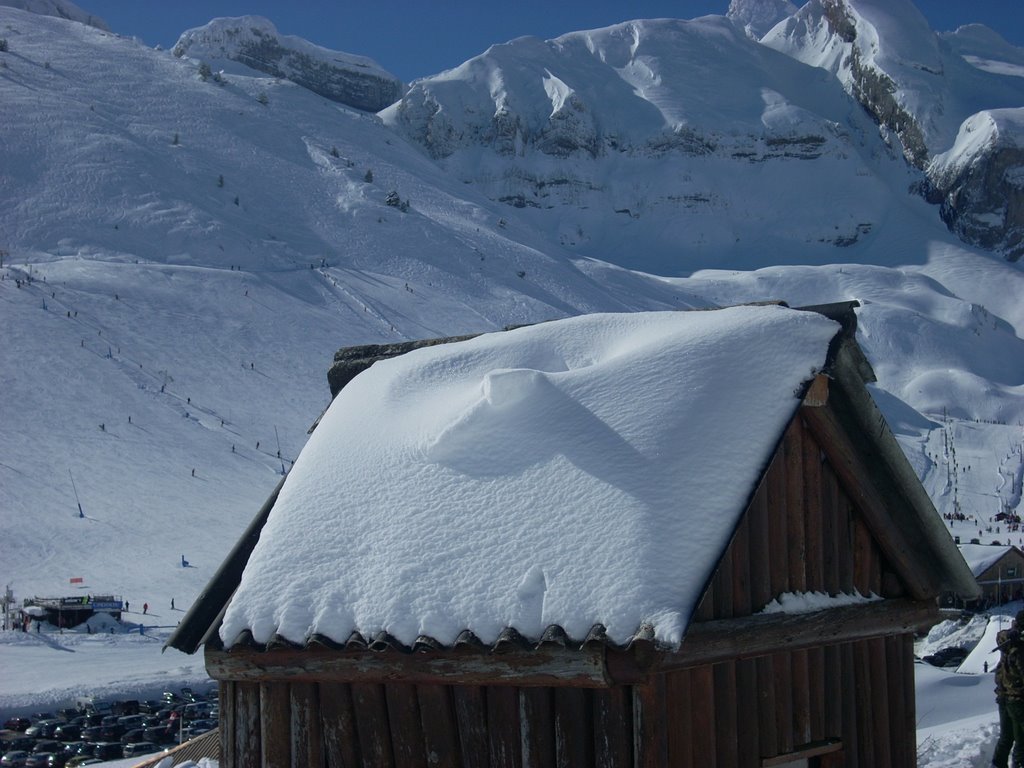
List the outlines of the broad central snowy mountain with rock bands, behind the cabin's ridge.
<svg viewBox="0 0 1024 768">
<path fill-rule="evenodd" d="M 513 40 L 381 116 L 548 239 L 659 274 L 891 263 L 886 218 L 935 218 L 834 78 L 722 16 Z"/>
</svg>

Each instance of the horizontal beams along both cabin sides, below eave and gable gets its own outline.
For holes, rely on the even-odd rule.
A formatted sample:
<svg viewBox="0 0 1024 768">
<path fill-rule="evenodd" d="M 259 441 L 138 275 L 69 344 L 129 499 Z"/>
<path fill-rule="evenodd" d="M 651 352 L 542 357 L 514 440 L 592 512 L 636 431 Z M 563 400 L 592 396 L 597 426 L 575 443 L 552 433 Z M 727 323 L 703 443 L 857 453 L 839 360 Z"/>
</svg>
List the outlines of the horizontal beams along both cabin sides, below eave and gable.
<svg viewBox="0 0 1024 768">
<path fill-rule="evenodd" d="M 207 646 L 206 667 L 216 680 L 240 683 L 287 680 L 602 688 L 638 683 L 651 674 L 756 658 L 779 650 L 913 633 L 936 622 L 938 608 L 931 601 L 874 600 L 809 613 L 761 613 L 697 622 L 690 625 L 678 651 L 653 650 L 645 652 L 641 660 L 630 650 L 603 646 L 501 654 L 377 653 L 325 648 L 224 651 Z M 552 657 L 559 660 L 557 666 L 552 664 Z M 564 675 L 559 675 L 560 671 Z"/>
</svg>

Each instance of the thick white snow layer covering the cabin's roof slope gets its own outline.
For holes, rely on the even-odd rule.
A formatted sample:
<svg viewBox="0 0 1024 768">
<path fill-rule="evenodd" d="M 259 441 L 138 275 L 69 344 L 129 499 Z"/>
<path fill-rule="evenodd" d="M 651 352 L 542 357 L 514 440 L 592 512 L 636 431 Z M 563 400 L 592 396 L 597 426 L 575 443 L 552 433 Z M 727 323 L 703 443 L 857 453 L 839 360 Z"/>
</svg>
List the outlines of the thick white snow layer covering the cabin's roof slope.
<svg viewBox="0 0 1024 768">
<path fill-rule="evenodd" d="M 284 483 L 220 637 L 678 645 L 838 331 L 781 306 L 595 314 L 377 362 Z"/>
</svg>

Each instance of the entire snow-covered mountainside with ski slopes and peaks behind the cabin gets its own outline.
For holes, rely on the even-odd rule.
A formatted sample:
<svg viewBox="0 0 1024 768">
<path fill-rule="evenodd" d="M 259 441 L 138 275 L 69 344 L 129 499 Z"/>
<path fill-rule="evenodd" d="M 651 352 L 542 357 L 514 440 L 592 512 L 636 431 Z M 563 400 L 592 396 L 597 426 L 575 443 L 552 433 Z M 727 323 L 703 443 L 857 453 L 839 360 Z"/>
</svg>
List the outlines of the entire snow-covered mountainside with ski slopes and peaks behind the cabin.
<svg viewBox="0 0 1024 768">
<path fill-rule="evenodd" d="M 944 117 L 914 118 L 935 136 L 928 173 L 1019 205 L 1018 165 L 994 189 L 980 167 L 1019 151 L 1019 50 L 982 63 L 967 32 L 921 42 L 909 6 L 886 5 L 902 27 L 843 5 L 863 11 L 858 36 L 863 19 L 901 31 L 901 61 L 945 73 Z M 0 6 L 16 597 L 82 577 L 187 606 L 302 449 L 336 349 L 596 311 L 857 299 L 874 393 L 939 510 L 1020 509 L 1021 265 L 949 231 L 940 213 L 966 195 L 940 211 L 909 191 L 926 171 L 838 71 L 725 17 L 637 20 L 495 45 L 375 115 L 304 87 L 291 53 L 269 57 L 284 75 L 242 60 L 238 19 L 203 29 L 176 56 Z M 268 50 L 365 61 L 256 29 Z M 970 82 L 1017 100 L 962 108 Z"/>
</svg>

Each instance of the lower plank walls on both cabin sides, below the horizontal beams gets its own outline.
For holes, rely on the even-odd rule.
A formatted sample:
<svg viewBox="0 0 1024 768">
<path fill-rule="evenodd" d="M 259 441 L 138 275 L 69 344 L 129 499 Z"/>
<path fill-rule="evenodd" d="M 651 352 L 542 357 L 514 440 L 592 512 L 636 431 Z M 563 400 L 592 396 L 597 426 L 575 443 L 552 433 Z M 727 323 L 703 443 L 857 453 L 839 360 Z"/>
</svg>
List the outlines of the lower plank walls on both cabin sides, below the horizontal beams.
<svg viewBox="0 0 1024 768">
<path fill-rule="evenodd" d="M 909 768 L 911 644 L 821 649 L 816 715 L 815 676 L 790 674 L 805 659 L 788 651 L 611 689 L 221 683 L 221 749 L 251 768 L 758 768 L 839 739 L 836 765 Z"/>
</svg>

